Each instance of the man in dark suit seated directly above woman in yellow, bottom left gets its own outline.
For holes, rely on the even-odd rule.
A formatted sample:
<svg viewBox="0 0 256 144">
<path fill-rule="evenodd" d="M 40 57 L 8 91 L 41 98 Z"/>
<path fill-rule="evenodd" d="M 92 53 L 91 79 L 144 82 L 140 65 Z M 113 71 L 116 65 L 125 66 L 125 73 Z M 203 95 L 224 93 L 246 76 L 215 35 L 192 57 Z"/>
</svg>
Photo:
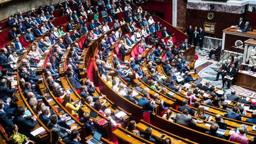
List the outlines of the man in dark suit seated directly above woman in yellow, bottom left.
<svg viewBox="0 0 256 144">
<path fill-rule="evenodd" d="M 18 107 L 17 113 L 14 117 L 14 124 L 19 126 L 20 133 L 31 136 L 30 130 L 34 129 L 37 124 L 37 116 L 27 116 L 25 115 L 25 109 L 23 107 Z"/>
</svg>

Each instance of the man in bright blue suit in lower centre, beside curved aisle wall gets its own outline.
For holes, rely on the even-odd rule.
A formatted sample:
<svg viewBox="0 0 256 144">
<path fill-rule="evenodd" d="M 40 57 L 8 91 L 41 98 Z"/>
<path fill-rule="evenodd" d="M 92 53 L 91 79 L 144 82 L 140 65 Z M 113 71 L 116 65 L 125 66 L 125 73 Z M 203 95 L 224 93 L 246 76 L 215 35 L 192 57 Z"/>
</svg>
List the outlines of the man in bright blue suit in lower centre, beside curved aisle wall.
<svg viewBox="0 0 256 144">
<path fill-rule="evenodd" d="M 143 108 L 143 113 L 152 113 L 153 109 L 155 109 L 155 101 L 152 99 L 151 101 L 147 100 L 147 96 L 148 95 L 144 94 L 143 97 L 139 99 L 137 105 Z"/>
</svg>

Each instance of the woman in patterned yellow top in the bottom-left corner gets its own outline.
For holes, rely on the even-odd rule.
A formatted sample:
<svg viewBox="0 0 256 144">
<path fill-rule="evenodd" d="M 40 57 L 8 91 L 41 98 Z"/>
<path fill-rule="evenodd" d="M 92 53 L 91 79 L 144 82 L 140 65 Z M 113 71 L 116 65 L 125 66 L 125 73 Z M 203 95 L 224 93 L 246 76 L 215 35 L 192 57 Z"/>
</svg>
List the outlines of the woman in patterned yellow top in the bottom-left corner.
<svg viewBox="0 0 256 144">
<path fill-rule="evenodd" d="M 16 124 L 14 124 L 12 127 L 11 127 L 11 143 L 17 143 L 17 144 L 20 144 L 20 143 L 24 143 L 24 144 L 28 144 L 28 143 L 34 143 L 32 140 L 30 140 L 27 136 L 21 134 L 21 133 L 18 133 L 18 126 Z"/>
</svg>

